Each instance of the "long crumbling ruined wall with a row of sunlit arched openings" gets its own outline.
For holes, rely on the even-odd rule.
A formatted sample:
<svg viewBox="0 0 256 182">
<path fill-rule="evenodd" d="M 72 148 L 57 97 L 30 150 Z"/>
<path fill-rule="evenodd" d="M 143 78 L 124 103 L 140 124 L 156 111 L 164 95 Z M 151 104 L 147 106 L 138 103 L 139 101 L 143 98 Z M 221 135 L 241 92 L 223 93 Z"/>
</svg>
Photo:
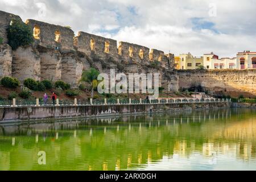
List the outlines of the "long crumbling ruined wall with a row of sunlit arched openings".
<svg viewBox="0 0 256 182">
<path fill-rule="evenodd" d="M 124 73 L 160 73 L 163 84 L 168 82 L 174 67 L 174 55 L 149 49 L 137 44 L 119 42 L 80 31 L 77 36 L 69 27 L 57 26 L 28 19 L 34 43 L 12 51 L 7 44 L 6 28 L 19 16 L 0 11 L 0 77 L 13 76 L 36 80 L 63 80 L 77 86 L 82 71 L 94 67 L 100 72 L 109 73 L 110 68 Z M 150 67 L 153 61 L 159 61 L 158 67 Z M 176 79 L 177 80 L 177 79 Z"/>
</svg>

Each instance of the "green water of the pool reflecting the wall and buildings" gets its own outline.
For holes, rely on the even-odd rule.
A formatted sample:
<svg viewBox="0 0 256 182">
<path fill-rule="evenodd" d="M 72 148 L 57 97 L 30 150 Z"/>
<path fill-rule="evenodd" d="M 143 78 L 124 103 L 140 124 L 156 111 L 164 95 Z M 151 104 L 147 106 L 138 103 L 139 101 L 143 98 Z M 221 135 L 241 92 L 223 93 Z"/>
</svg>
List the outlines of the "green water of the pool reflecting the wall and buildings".
<svg viewBox="0 0 256 182">
<path fill-rule="evenodd" d="M 255 151 L 256 109 L 0 125 L 0 170 L 255 170 Z"/>
</svg>

